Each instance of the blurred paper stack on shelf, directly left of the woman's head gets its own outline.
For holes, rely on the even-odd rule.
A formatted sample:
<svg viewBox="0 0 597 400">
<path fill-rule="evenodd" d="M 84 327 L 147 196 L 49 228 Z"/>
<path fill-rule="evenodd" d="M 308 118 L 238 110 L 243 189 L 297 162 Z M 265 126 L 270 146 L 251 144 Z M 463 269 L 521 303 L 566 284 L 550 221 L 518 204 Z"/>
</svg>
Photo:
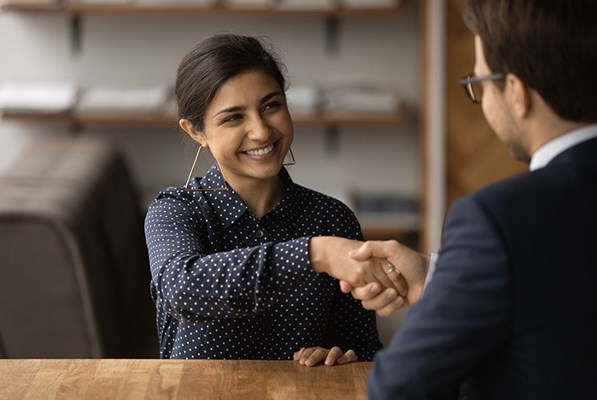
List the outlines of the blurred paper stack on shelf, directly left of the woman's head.
<svg viewBox="0 0 597 400">
<path fill-rule="evenodd" d="M 79 114 L 164 113 L 171 96 L 172 90 L 167 85 L 97 86 L 82 91 L 76 111 Z"/>
</svg>

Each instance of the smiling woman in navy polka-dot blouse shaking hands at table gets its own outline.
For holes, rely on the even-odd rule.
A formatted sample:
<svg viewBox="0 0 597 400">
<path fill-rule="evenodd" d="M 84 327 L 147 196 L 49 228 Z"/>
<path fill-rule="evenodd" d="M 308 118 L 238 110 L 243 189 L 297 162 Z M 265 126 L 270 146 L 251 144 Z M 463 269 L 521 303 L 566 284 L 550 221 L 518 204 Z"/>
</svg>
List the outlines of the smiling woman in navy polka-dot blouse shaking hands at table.
<svg viewBox="0 0 597 400">
<path fill-rule="evenodd" d="M 283 167 L 294 131 L 282 71 L 262 42 L 233 34 L 206 39 L 179 66 L 180 127 L 216 164 L 162 191 L 146 218 L 163 358 L 332 365 L 381 348 L 373 312 L 319 273 L 331 273 L 320 236 L 348 252 L 359 242 L 330 236 L 362 234 L 344 204 Z M 377 264 L 368 273 L 387 280 Z"/>
</svg>

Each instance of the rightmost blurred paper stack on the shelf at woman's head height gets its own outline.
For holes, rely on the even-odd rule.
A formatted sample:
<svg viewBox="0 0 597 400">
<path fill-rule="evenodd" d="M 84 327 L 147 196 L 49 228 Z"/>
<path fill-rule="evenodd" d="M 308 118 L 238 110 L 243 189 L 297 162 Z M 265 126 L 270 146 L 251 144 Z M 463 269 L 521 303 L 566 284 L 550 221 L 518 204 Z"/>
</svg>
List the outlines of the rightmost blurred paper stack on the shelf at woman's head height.
<svg viewBox="0 0 597 400">
<path fill-rule="evenodd" d="M 395 113 L 401 99 L 395 90 L 371 85 L 329 87 L 322 91 L 323 108 L 330 114 Z"/>
</svg>

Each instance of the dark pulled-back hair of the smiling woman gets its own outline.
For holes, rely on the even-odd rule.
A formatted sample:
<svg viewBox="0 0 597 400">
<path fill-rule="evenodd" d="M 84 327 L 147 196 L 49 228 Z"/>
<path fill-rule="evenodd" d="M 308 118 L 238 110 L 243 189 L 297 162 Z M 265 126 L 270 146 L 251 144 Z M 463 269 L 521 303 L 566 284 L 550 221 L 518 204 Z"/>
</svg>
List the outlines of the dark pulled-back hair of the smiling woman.
<svg viewBox="0 0 597 400">
<path fill-rule="evenodd" d="M 286 90 L 286 67 L 265 38 L 237 34 L 211 36 L 182 59 L 176 76 L 178 117 L 203 131 L 205 111 L 228 79 L 247 70 L 260 70 Z"/>
</svg>

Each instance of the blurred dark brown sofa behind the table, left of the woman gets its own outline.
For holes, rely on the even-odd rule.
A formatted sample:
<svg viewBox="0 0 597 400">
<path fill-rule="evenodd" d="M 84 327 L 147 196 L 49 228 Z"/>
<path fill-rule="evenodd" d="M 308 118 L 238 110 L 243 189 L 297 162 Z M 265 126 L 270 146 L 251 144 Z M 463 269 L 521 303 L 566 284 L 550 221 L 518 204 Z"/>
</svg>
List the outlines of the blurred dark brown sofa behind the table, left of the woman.
<svg viewBox="0 0 597 400">
<path fill-rule="evenodd" d="M 0 357 L 158 356 L 143 215 L 122 155 L 35 139 L 0 172 Z"/>
</svg>

